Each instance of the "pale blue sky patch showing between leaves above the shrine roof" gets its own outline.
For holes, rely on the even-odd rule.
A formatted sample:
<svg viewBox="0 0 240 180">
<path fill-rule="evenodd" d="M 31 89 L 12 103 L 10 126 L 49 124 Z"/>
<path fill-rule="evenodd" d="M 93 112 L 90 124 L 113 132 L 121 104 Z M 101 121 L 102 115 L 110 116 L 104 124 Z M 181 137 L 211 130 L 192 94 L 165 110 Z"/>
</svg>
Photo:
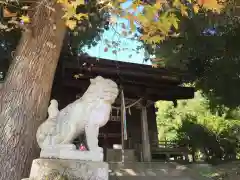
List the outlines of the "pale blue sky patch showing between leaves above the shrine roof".
<svg viewBox="0 0 240 180">
<path fill-rule="evenodd" d="M 128 1 L 124 4 L 124 6 L 127 7 L 130 4 L 131 1 Z M 91 47 L 90 49 L 84 48 L 84 51 L 90 56 L 97 58 L 150 65 L 151 63 L 149 61 L 144 62 L 144 53 L 146 53 L 144 49 L 139 50 L 138 53 L 136 52 L 136 49 L 138 46 L 141 45 L 141 42 L 133 39 L 133 34 L 130 34 L 126 37 L 121 35 L 123 32 L 123 23 L 125 24 L 126 29 L 129 28 L 128 20 L 116 17 L 113 18 L 117 23 L 110 26 L 109 30 L 106 30 L 103 33 L 102 38 L 97 44 L 97 46 Z M 112 41 L 118 42 L 119 45 L 117 46 L 117 48 L 108 48 L 106 51 L 107 43 Z M 113 53 L 114 50 L 116 50 L 115 52 L 117 53 Z"/>
</svg>

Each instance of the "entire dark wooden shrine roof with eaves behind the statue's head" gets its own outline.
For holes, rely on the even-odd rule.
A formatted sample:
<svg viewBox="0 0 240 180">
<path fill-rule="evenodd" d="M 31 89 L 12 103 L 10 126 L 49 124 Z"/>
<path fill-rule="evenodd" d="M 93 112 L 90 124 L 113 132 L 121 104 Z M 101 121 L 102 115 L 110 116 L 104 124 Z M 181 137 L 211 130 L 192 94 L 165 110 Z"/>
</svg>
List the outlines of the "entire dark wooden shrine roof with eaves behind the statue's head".
<svg viewBox="0 0 240 180">
<path fill-rule="evenodd" d="M 62 85 L 82 91 L 90 84 L 90 78 L 100 75 L 122 85 L 129 98 L 174 101 L 194 97 L 194 88 L 181 86 L 187 76 L 180 71 L 89 56 L 61 59 L 59 67 Z"/>
</svg>

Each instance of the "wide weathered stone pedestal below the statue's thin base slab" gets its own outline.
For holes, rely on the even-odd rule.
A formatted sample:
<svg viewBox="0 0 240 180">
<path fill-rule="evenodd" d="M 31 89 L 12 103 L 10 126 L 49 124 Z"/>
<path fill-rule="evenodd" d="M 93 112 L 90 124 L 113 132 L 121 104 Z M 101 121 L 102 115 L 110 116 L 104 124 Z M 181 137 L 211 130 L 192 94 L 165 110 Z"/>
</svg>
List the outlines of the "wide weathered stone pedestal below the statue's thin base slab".
<svg viewBox="0 0 240 180">
<path fill-rule="evenodd" d="M 60 180 L 61 176 L 63 180 L 108 180 L 108 164 L 82 160 L 35 159 L 29 180 Z"/>
</svg>

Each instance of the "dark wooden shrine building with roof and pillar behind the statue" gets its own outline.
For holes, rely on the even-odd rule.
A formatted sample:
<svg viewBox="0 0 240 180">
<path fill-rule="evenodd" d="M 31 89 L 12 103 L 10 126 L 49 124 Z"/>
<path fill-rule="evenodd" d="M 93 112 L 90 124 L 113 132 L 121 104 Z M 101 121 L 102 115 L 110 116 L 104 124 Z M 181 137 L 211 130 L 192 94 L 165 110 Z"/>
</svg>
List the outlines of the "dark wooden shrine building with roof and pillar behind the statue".
<svg viewBox="0 0 240 180">
<path fill-rule="evenodd" d="M 152 68 L 89 56 L 61 59 L 55 75 L 52 98 L 59 102 L 59 109 L 81 97 L 90 84 L 90 78 L 102 76 L 114 80 L 124 94 L 126 111 L 126 137 L 123 139 L 121 123 L 121 96 L 113 105 L 109 122 L 99 133 L 99 146 L 104 148 L 105 160 L 121 161 L 124 142 L 125 161 L 152 161 L 153 149 L 158 147 L 155 102 L 194 97 L 194 88 L 181 84 L 188 78 L 177 70 Z"/>
</svg>

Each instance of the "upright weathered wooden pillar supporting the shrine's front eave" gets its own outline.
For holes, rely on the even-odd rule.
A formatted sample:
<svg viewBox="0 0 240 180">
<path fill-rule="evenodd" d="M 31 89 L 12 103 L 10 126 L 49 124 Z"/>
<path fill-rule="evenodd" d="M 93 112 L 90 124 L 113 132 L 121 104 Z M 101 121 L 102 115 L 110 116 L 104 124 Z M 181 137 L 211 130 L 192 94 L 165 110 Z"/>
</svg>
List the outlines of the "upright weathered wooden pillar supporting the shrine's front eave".
<svg viewBox="0 0 240 180">
<path fill-rule="evenodd" d="M 148 119 L 147 119 L 147 107 L 146 103 L 141 107 L 141 135 L 142 135 L 142 157 L 144 162 L 151 161 L 151 150 L 148 132 Z"/>
</svg>

